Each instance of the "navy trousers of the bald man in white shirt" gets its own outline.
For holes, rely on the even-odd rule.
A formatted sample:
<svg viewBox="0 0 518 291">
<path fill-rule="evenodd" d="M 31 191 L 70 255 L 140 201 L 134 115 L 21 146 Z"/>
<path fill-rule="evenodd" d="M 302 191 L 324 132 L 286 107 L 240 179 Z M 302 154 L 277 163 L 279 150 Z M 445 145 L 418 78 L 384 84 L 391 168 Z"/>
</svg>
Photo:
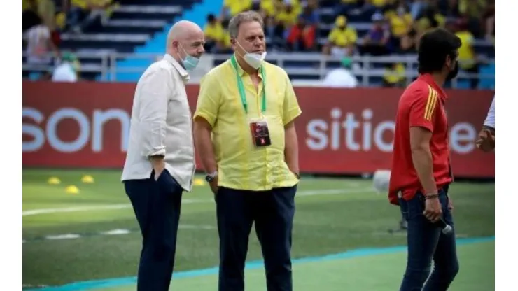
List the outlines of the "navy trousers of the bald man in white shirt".
<svg viewBox="0 0 518 291">
<path fill-rule="evenodd" d="M 167 291 L 176 253 L 183 189 L 164 170 L 158 180 L 124 181 L 142 233 L 138 291 Z"/>
</svg>

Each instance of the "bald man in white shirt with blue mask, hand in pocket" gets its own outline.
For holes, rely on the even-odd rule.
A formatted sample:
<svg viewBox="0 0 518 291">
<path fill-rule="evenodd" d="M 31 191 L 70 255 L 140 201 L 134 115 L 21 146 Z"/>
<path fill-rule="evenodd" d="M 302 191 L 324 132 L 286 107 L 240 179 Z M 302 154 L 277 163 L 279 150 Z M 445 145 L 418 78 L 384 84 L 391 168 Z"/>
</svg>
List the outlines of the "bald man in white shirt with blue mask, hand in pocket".
<svg viewBox="0 0 518 291">
<path fill-rule="evenodd" d="M 193 22 L 174 24 L 164 58 L 146 69 L 135 90 L 122 180 L 143 240 L 137 290 L 166 291 L 176 253 L 181 196 L 195 173 L 188 70 L 204 52 Z"/>
</svg>

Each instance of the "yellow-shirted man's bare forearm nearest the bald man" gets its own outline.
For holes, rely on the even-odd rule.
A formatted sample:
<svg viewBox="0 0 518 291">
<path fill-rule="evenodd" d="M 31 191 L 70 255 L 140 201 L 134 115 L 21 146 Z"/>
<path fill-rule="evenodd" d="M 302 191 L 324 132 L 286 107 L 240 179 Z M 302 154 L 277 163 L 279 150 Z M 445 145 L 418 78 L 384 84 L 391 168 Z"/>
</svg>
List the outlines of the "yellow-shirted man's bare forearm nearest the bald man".
<svg viewBox="0 0 518 291">
<path fill-rule="evenodd" d="M 200 121 L 195 122 L 194 126 L 195 147 L 202 165 L 207 173 L 214 173 L 218 170 L 216 158 L 214 156 L 214 146 L 212 145 L 211 129 L 200 124 Z"/>
</svg>

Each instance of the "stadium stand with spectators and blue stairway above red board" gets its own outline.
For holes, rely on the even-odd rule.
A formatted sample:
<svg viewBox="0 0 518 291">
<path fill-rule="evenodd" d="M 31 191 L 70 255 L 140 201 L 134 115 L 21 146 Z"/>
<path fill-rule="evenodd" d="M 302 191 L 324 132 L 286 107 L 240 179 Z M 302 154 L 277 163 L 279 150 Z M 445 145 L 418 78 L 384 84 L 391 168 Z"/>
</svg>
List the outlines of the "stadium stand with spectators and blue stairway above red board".
<svg viewBox="0 0 518 291">
<path fill-rule="evenodd" d="M 351 73 L 360 85 L 404 85 L 417 74 L 415 45 L 419 35 L 430 27 L 446 27 L 456 31 L 465 43 L 459 56 L 463 70 L 451 85 L 494 87 L 494 3 L 489 5 L 493 1 L 475 1 L 479 6 L 467 6 L 466 0 L 90 1 L 102 3 L 104 16 L 84 27 L 70 26 L 69 22 L 74 6 L 87 7 L 84 5 L 89 0 L 54 1 L 55 24 L 48 24 L 45 17 L 57 46 L 54 59 L 59 59 L 59 51 L 73 52 L 78 57 L 80 77 L 85 80 L 138 80 L 146 66 L 162 55 L 167 31 L 179 19 L 205 27 L 214 44 L 208 48 L 211 54 L 204 57 L 204 63 L 206 67 L 220 64 L 230 50 L 230 37 L 225 31 L 228 19 L 242 10 L 254 9 L 265 17 L 267 61 L 283 66 L 297 83 L 318 83 L 341 67 L 342 58 L 349 57 L 353 62 Z M 37 3 L 38 13 L 43 15 L 41 7 L 51 6 L 52 0 L 24 0 L 24 23 L 29 19 L 30 2 Z M 25 24 L 24 29 L 24 78 L 48 77 L 56 61 L 29 62 L 30 29 Z M 366 36 L 370 42 L 365 42 Z M 377 37 L 381 38 L 372 41 Z"/>
</svg>

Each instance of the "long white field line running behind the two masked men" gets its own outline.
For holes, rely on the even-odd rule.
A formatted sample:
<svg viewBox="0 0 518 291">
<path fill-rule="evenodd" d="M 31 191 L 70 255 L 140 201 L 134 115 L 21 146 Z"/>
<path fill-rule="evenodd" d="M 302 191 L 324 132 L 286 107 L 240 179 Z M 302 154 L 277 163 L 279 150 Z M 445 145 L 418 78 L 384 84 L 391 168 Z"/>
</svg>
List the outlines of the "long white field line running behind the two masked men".
<svg viewBox="0 0 518 291">
<path fill-rule="evenodd" d="M 327 190 L 306 190 L 297 192 L 297 197 L 300 196 L 314 196 L 314 195 L 336 195 L 336 194 L 355 194 L 361 192 L 370 192 L 369 188 L 363 187 L 350 187 L 343 189 L 327 189 Z M 183 199 L 182 204 L 193 204 L 193 203 L 214 203 L 213 199 Z M 23 211 L 23 216 L 29 215 L 40 215 L 48 213 L 65 213 L 65 212 L 78 212 L 78 211 L 99 211 L 99 210 L 111 210 L 111 209 L 124 209 L 132 208 L 132 204 L 110 204 L 110 205 L 90 205 L 90 206 L 76 206 L 67 208 L 43 208 L 43 209 L 31 209 Z"/>
</svg>

